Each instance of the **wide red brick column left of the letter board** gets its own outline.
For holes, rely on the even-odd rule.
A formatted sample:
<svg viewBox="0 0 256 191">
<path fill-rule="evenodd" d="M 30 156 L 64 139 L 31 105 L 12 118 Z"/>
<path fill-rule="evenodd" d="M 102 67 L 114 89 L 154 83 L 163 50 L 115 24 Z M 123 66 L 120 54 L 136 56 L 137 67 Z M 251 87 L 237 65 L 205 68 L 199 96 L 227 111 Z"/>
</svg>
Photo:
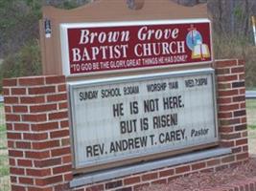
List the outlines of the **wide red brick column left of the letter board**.
<svg viewBox="0 0 256 191">
<path fill-rule="evenodd" d="M 65 190 L 72 180 L 65 77 L 3 84 L 12 191 Z"/>
</svg>

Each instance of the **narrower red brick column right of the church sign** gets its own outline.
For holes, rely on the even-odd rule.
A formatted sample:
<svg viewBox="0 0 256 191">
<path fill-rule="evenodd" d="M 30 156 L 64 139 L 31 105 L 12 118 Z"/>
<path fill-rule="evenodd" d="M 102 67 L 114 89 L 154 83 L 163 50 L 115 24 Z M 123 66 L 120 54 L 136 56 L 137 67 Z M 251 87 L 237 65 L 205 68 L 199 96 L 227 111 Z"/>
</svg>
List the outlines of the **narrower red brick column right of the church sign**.
<svg viewBox="0 0 256 191">
<path fill-rule="evenodd" d="M 216 62 L 221 146 L 232 148 L 230 161 L 248 159 L 244 61 Z"/>
</svg>

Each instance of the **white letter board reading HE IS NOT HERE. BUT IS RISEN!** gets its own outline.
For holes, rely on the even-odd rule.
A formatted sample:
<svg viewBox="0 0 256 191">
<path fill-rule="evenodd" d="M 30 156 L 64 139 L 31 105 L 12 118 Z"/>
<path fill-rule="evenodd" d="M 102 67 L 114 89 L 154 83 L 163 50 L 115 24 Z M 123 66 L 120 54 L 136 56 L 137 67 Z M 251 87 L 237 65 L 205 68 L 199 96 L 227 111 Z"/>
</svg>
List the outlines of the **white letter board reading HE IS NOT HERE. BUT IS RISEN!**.
<svg viewBox="0 0 256 191">
<path fill-rule="evenodd" d="M 75 167 L 218 141 L 214 70 L 70 83 Z"/>
</svg>

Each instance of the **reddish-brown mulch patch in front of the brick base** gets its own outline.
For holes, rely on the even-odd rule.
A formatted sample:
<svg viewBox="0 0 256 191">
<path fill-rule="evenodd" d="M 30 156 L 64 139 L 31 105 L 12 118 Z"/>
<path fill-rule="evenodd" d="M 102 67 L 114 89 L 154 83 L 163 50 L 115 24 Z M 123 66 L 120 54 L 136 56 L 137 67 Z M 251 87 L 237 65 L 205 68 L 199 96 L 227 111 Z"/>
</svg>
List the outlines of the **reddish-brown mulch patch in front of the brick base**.
<svg viewBox="0 0 256 191">
<path fill-rule="evenodd" d="M 223 169 L 217 172 L 195 173 L 169 182 L 143 187 L 141 191 L 205 191 L 217 187 L 231 185 L 238 181 L 256 178 L 256 158 L 237 167 Z"/>
</svg>

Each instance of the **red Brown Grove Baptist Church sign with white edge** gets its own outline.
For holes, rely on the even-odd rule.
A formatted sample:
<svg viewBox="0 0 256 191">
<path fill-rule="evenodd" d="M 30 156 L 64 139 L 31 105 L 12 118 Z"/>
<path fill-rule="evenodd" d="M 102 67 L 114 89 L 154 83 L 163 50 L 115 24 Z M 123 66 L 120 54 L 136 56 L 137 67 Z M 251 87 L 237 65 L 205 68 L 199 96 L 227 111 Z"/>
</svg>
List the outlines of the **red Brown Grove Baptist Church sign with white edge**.
<svg viewBox="0 0 256 191">
<path fill-rule="evenodd" d="M 66 75 L 212 62 L 208 19 L 60 24 Z"/>
</svg>

